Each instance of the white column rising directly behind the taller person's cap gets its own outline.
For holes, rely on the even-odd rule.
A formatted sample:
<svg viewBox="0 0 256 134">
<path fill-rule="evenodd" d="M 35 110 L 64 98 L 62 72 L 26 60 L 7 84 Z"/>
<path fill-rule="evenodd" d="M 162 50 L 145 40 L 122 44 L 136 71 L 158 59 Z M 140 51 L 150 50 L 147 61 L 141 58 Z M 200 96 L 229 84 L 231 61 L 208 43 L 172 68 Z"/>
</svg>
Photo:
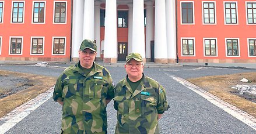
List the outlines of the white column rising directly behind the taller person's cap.
<svg viewBox="0 0 256 134">
<path fill-rule="evenodd" d="M 83 12 L 83 39 L 94 40 L 94 0 L 85 0 Z"/>
</svg>

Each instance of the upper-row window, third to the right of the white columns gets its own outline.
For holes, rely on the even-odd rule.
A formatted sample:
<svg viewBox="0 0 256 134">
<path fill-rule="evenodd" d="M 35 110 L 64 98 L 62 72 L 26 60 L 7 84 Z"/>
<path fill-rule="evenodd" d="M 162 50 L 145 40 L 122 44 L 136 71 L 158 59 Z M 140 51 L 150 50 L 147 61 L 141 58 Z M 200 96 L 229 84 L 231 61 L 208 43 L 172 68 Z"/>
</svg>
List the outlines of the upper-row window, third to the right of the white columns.
<svg viewBox="0 0 256 134">
<path fill-rule="evenodd" d="M 236 3 L 225 3 L 225 23 L 237 24 Z"/>
</svg>

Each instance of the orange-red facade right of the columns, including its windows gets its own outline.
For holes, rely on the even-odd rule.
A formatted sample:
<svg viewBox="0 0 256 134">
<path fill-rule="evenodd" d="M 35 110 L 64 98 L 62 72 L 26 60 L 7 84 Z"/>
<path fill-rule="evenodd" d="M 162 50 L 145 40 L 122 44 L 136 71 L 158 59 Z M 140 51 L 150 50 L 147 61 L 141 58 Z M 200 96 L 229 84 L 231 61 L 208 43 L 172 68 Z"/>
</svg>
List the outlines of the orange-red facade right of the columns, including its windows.
<svg viewBox="0 0 256 134">
<path fill-rule="evenodd" d="M 256 62 L 256 1 L 177 1 L 181 62 Z"/>
</svg>

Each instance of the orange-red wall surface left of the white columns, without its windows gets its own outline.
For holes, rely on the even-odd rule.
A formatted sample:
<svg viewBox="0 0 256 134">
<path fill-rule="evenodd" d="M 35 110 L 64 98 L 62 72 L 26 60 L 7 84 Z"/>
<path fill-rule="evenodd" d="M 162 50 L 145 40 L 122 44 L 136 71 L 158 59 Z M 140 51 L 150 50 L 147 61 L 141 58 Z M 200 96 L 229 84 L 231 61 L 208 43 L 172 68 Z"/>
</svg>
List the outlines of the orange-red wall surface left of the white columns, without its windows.
<svg viewBox="0 0 256 134">
<path fill-rule="evenodd" d="M 66 3 L 66 24 L 53 24 L 54 1 L 45 3 L 45 24 L 31 24 L 33 1 L 24 3 L 23 24 L 10 23 L 12 1 L 5 1 L 3 23 L 0 24 L 2 52 L 0 57 L 46 57 L 48 60 L 69 58 L 71 42 L 71 0 Z M 22 55 L 9 55 L 10 37 L 23 37 Z M 44 37 L 44 55 L 30 55 L 31 37 Z M 52 55 L 52 37 L 66 37 L 65 55 Z"/>
</svg>

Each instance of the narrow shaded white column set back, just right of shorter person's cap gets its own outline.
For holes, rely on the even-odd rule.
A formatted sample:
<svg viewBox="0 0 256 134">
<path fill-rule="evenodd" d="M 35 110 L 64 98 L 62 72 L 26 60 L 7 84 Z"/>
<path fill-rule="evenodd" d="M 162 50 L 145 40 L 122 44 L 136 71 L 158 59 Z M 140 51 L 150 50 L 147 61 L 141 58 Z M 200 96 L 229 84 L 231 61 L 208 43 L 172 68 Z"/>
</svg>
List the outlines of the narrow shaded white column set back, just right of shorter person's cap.
<svg viewBox="0 0 256 134">
<path fill-rule="evenodd" d="M 146 3 L 146 59 L 150 59 L 150 41 L 154 40 L 154 8 L 153 2 Z"/>
</svg>

